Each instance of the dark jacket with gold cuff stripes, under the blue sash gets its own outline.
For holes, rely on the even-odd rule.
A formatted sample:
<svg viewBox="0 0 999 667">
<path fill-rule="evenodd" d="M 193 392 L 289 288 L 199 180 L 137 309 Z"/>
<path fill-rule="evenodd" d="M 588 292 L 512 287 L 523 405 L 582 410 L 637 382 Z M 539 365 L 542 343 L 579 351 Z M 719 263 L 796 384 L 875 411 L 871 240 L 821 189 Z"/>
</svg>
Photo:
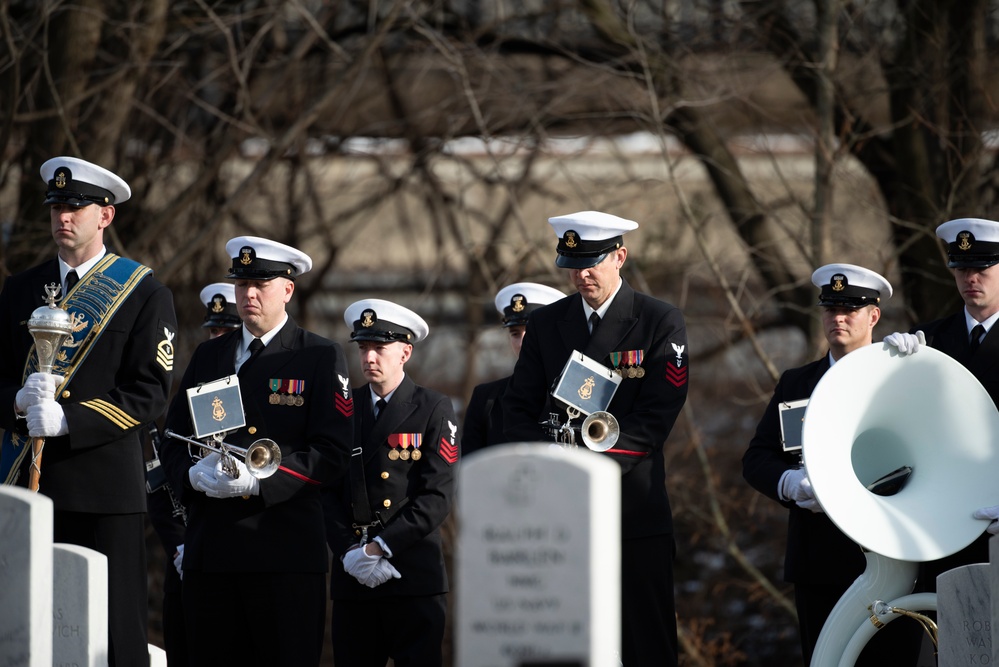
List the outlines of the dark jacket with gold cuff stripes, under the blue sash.
<svg viewBox="0 0 999 667">
<path fill-rule="evenodd" d="M 87 276 L 81 276 L 85 280 Z M 44 286 L 60 282 L 51 259 L 10 276 L 0 293 L 0 427 L 27 435 L 14 418 L 14 397 L 33 339 L 28 318 L 45 305 Z M 173 295 L 146 275 L 108 321 L 104 333 L 57 400 L 69 435 L 46 438 L 39 492 L 57 510 L 130 514 L 146 510 L 142 435 L 163 415 L 172 359 L 157 361 L 157 346 L 172 350 L 177 331 Z M 27 460 L 29 457 L 25 457 Z M 19 484 L 27 484 L 22 474 Z"/>
</svg>

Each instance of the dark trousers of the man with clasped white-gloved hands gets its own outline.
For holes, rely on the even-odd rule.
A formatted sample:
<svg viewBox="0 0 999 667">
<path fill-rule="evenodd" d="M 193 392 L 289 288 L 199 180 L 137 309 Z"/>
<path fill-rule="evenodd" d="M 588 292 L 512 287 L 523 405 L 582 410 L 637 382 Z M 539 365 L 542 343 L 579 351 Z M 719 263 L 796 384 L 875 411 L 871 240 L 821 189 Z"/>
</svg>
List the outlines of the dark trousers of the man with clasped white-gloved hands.
<svg viewBox="0 0 999 667">
<path fill-rule="evenodd" d="M 334 600 L 336 667 L 441 667 L 446 596 Z"/>
</svg>

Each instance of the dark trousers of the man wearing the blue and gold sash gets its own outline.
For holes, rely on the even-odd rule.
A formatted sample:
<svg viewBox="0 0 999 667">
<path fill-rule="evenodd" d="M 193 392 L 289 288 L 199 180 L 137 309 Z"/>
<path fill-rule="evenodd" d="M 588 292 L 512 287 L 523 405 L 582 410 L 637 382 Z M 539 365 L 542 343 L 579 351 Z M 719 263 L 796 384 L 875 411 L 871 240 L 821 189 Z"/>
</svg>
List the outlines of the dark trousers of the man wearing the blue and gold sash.
<svg viewBox="0 0 999 667">
<path fill-rule="evenodd" d="M 56 511 L 53 539 L 108 557 L 108 664 L 148 667 L 145 514 Z"/>
</svg>

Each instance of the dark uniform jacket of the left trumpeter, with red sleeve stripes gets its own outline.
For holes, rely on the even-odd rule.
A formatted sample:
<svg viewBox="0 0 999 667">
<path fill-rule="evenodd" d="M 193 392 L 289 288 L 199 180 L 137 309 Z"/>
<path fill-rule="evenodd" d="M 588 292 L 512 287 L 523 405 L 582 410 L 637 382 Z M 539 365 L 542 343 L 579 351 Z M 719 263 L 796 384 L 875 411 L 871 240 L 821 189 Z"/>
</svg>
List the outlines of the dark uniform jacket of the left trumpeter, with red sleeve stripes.
<svg viewBox="0 0 999 667">
<path fill-rule="evenodd" d="M 166 429 L 193 433 L 186 389 L 231 375 L 241 332 L 201 343 L 170 405 Z M 302 380 L 302 405 L 271 403 L 271 380 Z M 206 572 L 325 572 L 328 567 L 320 490 L 347 469 L 353 400 L 347 361 L 337 343 L 289 317 L 253 365 L 239 376 L 246 426 L 225 442 L 247 448 L 270 438 L 281 469 L 260 480 L 248 499 L 209 498 L 188 479 L 187 443 L 166 438 L 160 460 L 188 510 L 184 569 Z"/>
</svg>

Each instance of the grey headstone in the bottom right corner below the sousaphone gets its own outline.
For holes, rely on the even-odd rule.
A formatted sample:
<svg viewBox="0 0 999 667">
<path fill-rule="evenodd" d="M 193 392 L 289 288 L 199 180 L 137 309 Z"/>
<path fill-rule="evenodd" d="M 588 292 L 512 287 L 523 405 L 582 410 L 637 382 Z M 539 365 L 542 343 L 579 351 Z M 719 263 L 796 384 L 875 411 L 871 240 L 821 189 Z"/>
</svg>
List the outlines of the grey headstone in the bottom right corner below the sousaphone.
<svg viewBox="0 0 999 667">
<path fill-rule="evenodd" d="M 989 564 L 948 570 L 937 577 L 937 664 L 941 667 L 992 662 L 992 596 Z"/>
</svg>

